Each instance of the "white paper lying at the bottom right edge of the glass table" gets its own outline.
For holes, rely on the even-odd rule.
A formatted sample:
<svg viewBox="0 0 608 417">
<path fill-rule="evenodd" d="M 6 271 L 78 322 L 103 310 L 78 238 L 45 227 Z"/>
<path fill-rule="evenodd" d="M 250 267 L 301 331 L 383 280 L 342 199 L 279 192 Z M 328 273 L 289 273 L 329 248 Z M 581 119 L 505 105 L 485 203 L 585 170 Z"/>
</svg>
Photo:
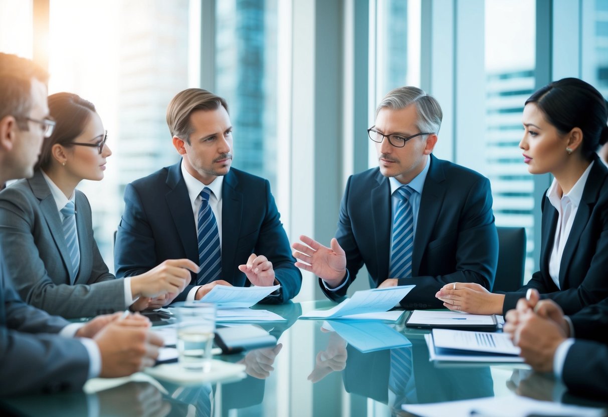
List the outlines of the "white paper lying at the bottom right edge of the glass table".
<svg viewBox="0 0 608 417">
<path fill-rule="evenodd" d="M 422 417 L 469 417 L 475 415 L 493 417 L 525 417 L 530 415 L 601 417 L 605 415 L 601 408 L 539 401 L 518 395 L 446 401 L 434 404 L 404 404 L 402 408 L 408 413 Z"/>
</svg>

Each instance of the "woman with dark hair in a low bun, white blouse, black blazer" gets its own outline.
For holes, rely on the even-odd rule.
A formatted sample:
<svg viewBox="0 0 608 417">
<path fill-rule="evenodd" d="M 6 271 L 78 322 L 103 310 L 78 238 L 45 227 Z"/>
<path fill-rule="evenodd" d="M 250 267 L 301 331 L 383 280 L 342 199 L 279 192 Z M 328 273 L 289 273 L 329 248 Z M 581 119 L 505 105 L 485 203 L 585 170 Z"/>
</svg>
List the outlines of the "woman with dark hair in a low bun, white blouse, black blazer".
<svg viewBox="0 0 608 417">
<path fill-rule="evenodd" d="M 564 78 L 528 98 L 523 109 L 523 162 L 551 173 L 542 198 L 540 271 L 516 292 L 492 294 L 474 283 L 444 286 L 451 310 L 505 314 L 528 288 L 573 314 L 608 297 L 608 169 L 598 146 L 608 140 L 604 98 L 585 81 Z"/>
</svg>

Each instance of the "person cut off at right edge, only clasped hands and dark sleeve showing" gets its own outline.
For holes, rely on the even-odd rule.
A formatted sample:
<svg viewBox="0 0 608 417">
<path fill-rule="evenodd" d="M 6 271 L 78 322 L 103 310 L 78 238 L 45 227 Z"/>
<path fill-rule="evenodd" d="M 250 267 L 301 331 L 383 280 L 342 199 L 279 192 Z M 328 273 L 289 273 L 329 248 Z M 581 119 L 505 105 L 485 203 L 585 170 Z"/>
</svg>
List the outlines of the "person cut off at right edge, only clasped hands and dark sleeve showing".
<svg viewBox="0 0 608 417">
<path fill-rule="evenodd" d="M 608 395 L 608 299 L 565 316 L 553 300 L 539 300 L 536 289 L 506 313 L 504 331 L 536 371 L 551 372 L 568 390 Z M 575 339 L 576 338 L 576 339 Z"/>
</svg>

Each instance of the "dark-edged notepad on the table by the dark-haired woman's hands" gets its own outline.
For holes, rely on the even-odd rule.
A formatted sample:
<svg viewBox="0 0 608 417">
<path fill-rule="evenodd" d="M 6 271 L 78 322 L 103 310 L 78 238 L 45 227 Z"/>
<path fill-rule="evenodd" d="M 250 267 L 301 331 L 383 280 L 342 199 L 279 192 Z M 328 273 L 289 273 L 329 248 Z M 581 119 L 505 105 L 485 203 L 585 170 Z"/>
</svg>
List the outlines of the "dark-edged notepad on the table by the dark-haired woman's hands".
<svg viewBox="0 0 608 417">
<path fill-rule="evenodd" d="M 496 331 L 499 325 L 494 314 L 478 315 L 458 311 L 414 310 L 407 317 L 406 327 Z"/>
</svg>

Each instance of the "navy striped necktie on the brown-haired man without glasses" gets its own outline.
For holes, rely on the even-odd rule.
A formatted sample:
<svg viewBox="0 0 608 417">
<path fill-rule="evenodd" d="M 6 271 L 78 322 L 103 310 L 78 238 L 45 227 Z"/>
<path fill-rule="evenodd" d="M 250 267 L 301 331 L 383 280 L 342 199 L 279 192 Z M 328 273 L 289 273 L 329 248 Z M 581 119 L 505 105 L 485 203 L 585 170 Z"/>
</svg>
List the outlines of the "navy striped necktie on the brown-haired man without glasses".
<svg viewBox="0 0 608 417">
<path fill-rule="evenodd" d="M 210 188 L 203 188 L 198 210 L 198 261 L 201 267 L 196 279 L 198 285 L 216 280 L 222 272 L 218 222 L 209 205 L 210 195 Z"/>
</svg>

